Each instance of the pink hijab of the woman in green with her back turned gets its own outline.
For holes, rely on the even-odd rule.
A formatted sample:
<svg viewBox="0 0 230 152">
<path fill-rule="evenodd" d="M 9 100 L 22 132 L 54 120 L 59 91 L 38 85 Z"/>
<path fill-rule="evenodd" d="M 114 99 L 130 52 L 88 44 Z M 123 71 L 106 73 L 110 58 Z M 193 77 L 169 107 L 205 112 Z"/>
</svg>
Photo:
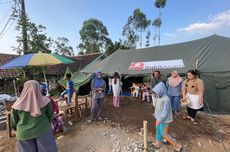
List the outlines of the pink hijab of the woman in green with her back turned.
<svg viewBox="0 0 230 152">
<path fill-rule="evenodd" d="M 31 116 L 38 117 L 42 114 L 40 109 L 49 102 L 48 97 L 42 96 L 40 84 L 35 80 L 29 80 L 24 84 L 22 93 L 12 108 L 30 112 Z"/>
</svg>

